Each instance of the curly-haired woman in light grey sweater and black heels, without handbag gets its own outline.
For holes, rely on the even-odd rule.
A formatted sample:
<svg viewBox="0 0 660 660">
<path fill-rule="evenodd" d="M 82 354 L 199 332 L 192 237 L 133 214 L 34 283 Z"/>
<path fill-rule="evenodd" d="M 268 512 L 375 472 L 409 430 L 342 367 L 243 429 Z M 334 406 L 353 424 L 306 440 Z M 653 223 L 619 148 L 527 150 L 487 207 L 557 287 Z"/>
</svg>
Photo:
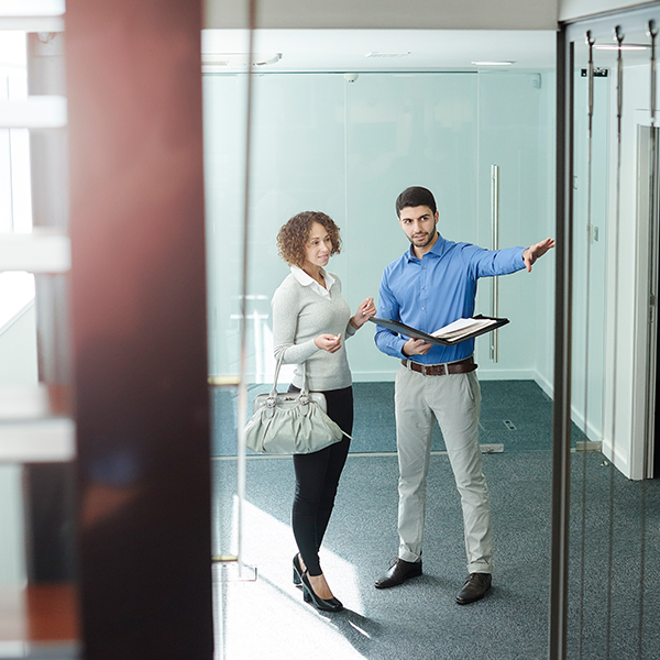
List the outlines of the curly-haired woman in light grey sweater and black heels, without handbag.
<svg viewBox="0 0 660 660">
<path fill-rule="evenodd" d="M 302 363 L 310 391 L 322 392 L 328 415 L 351 435 L 353 389 L 343 339 L 355 333 L 376 314 L 373 298 L 364 300 L 353 317 L 341 296 L 337 275 L 324 271 L 339 254 L 339 228 L 319 211 L 294 216 L 277 234 L 279 256 L 292 273 L 273 296 L 275 358 L 296 364 L 289 392 L 302 387 Z M 342 604 L 330 590 L 319 563 L 319 549 L 334 505 L 337 485 L 350 440 L 310 453 L 294 455 L 296 495 L 292 515 L 298 554 L 294 557 L 294 583 L 301 584 L 305 601 L 336 612 Z"/>
</svg>

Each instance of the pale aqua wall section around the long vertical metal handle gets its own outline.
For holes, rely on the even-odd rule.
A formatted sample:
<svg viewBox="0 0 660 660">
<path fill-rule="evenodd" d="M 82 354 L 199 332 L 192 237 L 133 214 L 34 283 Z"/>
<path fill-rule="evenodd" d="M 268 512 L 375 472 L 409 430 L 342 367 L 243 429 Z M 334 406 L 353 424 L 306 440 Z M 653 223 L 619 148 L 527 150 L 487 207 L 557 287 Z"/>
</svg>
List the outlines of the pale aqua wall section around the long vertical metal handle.
<svg viewBox="0 0 660 660">
<path fill-rule="evenodd" d="M 491 165 L 499 166 L 499 246 L 528 246 L 554 235 L 553 72 L 480 76 L 479 234 L 491 246 Z M 538 85 L 538 87 L 537 87 Z M 499 360 L 490 336 L 476 341 L 481 380 L 535 380 L 552 395 L 554 254 L 532 273 L 499 278 Z M 480 282 L 479 311 L 490 314 L 491 279 Z"/>
</svg>

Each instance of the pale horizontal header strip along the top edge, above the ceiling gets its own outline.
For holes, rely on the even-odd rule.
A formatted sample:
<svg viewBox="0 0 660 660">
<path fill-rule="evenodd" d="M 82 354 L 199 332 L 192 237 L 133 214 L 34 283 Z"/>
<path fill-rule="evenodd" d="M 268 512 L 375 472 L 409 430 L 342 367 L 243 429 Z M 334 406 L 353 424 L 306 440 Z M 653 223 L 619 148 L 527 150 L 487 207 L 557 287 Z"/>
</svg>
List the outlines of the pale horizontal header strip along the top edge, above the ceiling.
<svg viewBox="0 0 660 660">
<path fill-rule="evenodd" d="M 246 28 L 245 0 L 207 0 L 205 28 Z M 554 30 L 557 0 L 260 0 L 258 28 Z"/>
</svg>

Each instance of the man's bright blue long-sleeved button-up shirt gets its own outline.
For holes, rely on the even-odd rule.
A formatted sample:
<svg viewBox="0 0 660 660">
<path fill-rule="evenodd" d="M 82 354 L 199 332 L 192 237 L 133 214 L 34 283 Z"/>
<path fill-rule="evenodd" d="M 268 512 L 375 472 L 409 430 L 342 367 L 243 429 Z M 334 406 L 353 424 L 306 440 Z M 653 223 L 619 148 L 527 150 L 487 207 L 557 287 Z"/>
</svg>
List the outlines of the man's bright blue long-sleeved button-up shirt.
<svg viewBox="0 0 660 660">
<path fill-rule="evenodd" d="M 484 250 L 470 243 L 446 241 L 441 235 L 421 260 L 413 245 L 383 273 L 377 317 L 402 321 L 431 334 L 460 318 L 474 316 L 476 280 L 480 277 L 508 275 L 525 267 L 524 248 Z M 376 345 L 393 358 L 406 358 L 400 337 L 376 327 Z M 474 339 L 453 346 L 433 344 L 426 355 L 411 355 L 422 364 L 440 364 L 469 358 Z"/>
</svg>

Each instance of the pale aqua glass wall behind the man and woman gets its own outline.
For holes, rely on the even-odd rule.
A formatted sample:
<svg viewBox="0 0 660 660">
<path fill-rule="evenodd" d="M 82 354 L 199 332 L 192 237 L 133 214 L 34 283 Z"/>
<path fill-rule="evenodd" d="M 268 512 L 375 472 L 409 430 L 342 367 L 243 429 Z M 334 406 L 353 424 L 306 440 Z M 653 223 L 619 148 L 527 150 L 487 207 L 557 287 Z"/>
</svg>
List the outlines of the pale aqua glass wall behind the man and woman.
<svg viewBox="0 0 660 660">
<path fill-rule="evenodd" d="M 234 374 L 239 366 L 245 78 L 205 77 L 213 376 Z M 490 248 L 497 165 L 502 246 L 551 233 L 552 73 L 369 73 L 353 82 L 343 74 L 264 74 L 253 86 L 251 382 L 272 380 L 270 302 L 288 273 L 275 237 L 300 209 L 323 210 L 340 226 L 344 250 L 332 268 L 352 307 L 377 296 L 384 265 L 406 248 L 394 200 L 408 185 L 436 193 L 443 237 Z M 502 333 L 496 364 L 490 363 L 487 341 L 480 340 L 482 377 L 531 377 L 551 387 L 551 361 L 539 364 L 537 356 L 539 348 L 543 354 L 551 349 L 546 330 L 551 283 L 547 268 L 539 277 L 501 283 L 503 315 L 515 316 L 530 301 L 534 312 Z M 484 314 L 491 306 L 487 284 L 480 290 Z M 389 381 L 395 371 L 369 332 L 351 340 L 351 367 L 365 382 Z"/>
</svg>

